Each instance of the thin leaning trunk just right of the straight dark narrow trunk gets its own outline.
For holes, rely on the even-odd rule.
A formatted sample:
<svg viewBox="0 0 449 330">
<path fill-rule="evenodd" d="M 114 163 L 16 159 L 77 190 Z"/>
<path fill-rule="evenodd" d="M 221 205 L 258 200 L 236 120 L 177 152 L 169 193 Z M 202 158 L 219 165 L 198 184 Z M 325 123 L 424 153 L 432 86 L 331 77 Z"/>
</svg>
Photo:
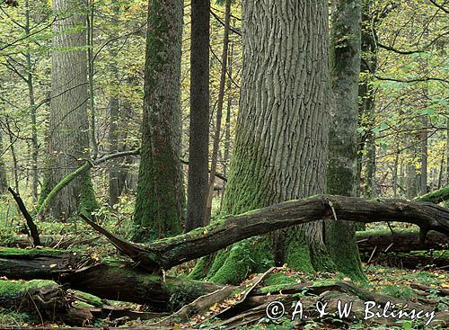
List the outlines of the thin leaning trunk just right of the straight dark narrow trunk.
<svg viewBox="0 0 449 330">
<path fill-rule="evenodd" d="M 214 186 L 216 182 L 216 163 L 218 160 L 218 147 L 220 145 L 220 133 L 222 127 L 223 104 L 225 103 L 225 83 L 229 44 L 229 24 L 231 21 L 231 0 L 226 0 L 225 4 L 225 35 L 223 37 L 223 53 L 222 53 L 222 71 L 220 75 L 220 87 L 218 90 L 218 101 L 216 104 L 216 129 L 214 133 L 214 147 L 212 149 L 212 162 L 210 165 L 209 176 L 209 191 L 207 194 L 206 203 L 206 222 L 210 222 L 210 215 L 212 211 L 212 199 L 214 197 Z"/>
</svg>

